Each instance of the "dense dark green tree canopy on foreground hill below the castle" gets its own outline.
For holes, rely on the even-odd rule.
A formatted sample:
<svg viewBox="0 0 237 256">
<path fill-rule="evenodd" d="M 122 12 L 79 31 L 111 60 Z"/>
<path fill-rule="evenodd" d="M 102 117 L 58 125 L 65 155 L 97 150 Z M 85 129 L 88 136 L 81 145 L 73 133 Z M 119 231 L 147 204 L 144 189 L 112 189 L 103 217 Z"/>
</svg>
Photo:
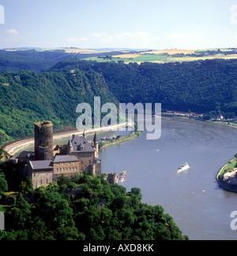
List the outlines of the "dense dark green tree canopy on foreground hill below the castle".
<svg viewBox="0 0 237 256">
<path fill-rule="evenodd" d="M 2 240 L 188 239 L 160 205 L 141 202 L 141 189 L 126 192 L 100 177 L 81 174 L 60 184 L 0 201 L 6 216 Z"/>
</svg>

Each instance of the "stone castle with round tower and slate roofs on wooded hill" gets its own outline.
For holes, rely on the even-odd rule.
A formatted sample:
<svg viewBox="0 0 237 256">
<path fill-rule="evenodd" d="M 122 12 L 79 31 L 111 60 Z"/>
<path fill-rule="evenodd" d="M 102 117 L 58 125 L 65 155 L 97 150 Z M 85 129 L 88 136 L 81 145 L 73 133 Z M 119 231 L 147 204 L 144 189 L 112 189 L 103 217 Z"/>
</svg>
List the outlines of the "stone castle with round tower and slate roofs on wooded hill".
<svg viewBox="0 0 237 256">
<path fill-rule="evenodd" d="M 21 161 L 27 161 L 27 174 L 32 178 L 34 188 L 58 181 L 62 174 L 68 178 L 84 171 L 93 176 L 101 174 L 96 133 L 91 142 L 86 139 L 84 132 L 83 136 L 73 135 L 67 144 L 54 146 L 52 122 L 36 122 L 34 125 L 35 151 L 22 152 L 19 156 Z M 111 184 L 118 183 L 118 174 L 108 174 L 105 179 Z"/>
</svg>

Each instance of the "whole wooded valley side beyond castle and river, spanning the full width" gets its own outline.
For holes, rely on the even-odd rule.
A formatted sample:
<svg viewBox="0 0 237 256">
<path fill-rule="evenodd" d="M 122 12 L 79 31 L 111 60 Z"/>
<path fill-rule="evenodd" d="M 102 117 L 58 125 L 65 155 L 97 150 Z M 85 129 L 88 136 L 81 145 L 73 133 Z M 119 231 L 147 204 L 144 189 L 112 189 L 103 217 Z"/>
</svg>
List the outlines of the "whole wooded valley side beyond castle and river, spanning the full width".
<svg viewBox="0 0 237 256">
<path fill-rule="evenodd" d="M 33 122 L 75 127 L 81 102 L 161 103 L 162 109 L 237 115 L 237 60 L 97 63 L 67 59 L 49 71 L 0 73 L 0 144 L 33 135 Z"/>
</svg>

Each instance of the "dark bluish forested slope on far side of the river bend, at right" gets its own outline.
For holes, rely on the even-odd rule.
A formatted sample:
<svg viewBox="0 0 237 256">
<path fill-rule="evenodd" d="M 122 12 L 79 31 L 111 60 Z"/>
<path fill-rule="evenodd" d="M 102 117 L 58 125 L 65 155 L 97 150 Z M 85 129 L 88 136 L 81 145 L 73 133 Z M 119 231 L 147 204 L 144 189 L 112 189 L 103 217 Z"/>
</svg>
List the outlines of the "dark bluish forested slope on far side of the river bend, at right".
<svg viewBox="0 0 237 256">
<path fill-rule="evenodd" d="M 124 103 L 162 103 L 163 109 L 237 114 L 235 59 L 141 65 L 71 59 L 53 69 L 71 67 L 102 74 L 111 93 Z"/>
</svg>

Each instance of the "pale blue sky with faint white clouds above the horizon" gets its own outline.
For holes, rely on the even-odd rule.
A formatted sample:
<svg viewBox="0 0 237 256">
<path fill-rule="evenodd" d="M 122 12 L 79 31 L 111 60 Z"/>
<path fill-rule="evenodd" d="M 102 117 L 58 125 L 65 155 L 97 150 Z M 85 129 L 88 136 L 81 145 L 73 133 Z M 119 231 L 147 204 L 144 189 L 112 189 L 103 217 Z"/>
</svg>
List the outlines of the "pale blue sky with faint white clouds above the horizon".
<svg viewBox="0 0 237 256">
<path fill-rule="evenodd" d="M 237 0 L 0 0 L 0 48 L 237 48 Z"/>
</svg>

